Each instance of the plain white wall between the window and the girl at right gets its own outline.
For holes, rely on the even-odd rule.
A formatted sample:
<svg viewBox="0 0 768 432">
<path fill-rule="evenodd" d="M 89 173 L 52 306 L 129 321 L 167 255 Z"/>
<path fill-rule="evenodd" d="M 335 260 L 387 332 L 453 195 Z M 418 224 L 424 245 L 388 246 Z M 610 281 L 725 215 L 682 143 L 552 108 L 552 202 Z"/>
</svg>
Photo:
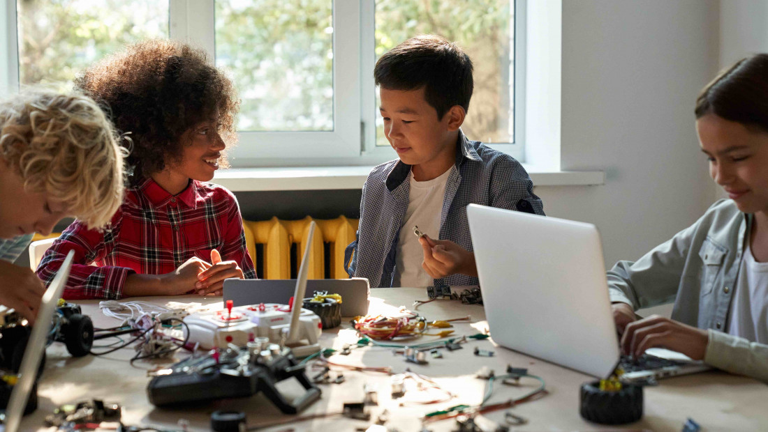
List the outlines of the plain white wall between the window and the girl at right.
<svg viewBox="0 0 768 432">
<path fill-rule="evenodd" d="M 717 0 L 563 2 L 561 168 L 603 170 L 606 181 L 536 193 L 548 215 L 598 225 L 609 267 L 713 201 L 693 110 L 718 44 Z"/>
</svg>

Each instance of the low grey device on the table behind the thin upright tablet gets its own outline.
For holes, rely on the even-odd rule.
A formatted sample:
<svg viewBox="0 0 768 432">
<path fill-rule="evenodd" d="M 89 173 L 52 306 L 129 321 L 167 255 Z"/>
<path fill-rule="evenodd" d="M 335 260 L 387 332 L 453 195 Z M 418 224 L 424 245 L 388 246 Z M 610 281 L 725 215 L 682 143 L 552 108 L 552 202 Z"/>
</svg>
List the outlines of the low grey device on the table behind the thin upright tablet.
<svg viewBox="0 0 768 432">
<path fill-rule="evenodd" d="M 259 303 L 288 303 L 296 288 L 295 279 L 227 279 L 224 280 L 224 303 L 232 300 L 234 306 Z M 306 281 L 306 296 L 315 291 L 339 294 L 342 316 L 368 314 L 370 286 L 365 278 L 310 279 Z"/>
</svg>

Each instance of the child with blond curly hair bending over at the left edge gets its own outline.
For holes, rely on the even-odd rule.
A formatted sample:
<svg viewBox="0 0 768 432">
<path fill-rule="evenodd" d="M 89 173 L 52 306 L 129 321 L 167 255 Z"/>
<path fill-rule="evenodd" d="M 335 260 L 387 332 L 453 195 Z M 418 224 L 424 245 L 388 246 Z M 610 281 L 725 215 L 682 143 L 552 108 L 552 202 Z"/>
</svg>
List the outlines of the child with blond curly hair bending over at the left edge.
<svg viewBox="0 0 768 432">
<path fill-rule="evenodd" d="M 89 97 L 26 90 L 0 101 L 0 303 L 34 321 L 45 287 L 13 262 L 62 218 L 104 227 L 123 201 L 123 153 Z"/>
</svg>

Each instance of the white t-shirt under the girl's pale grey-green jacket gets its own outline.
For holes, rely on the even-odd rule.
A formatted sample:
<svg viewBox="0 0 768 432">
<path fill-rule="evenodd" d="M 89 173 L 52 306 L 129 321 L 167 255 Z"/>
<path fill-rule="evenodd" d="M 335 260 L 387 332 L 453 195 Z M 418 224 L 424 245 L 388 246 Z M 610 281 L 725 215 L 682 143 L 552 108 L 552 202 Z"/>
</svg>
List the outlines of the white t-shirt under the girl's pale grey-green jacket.
<svg viewBox="0 0 768 432">
<path fill-rule="evenodd" d="M 728 333 L 768 344 L 768 263 L 758 263 L 749 244 L 746 241 L 730 303 Z"/>
</svg>

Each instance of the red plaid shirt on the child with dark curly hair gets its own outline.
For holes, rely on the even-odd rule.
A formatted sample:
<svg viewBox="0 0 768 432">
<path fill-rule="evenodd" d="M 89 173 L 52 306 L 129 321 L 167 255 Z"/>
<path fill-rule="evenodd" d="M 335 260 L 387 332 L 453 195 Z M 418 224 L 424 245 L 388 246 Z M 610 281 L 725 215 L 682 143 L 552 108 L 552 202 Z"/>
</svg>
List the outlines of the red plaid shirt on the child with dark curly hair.
<svg viewBox="0 0 768 432">
<path fill-rule="evenodd" d="M 129 274 L 170 273 L 191 257 L 210 263 L 213 249 L 222 260 L 237 261 L 247 279 L 256 277 L 232 192 L 192 180 L 174 196 L 147 178 L 126 189 L 123 205 L 103 232 L 80 221 L 67 227 L 42 257 L 37 274 L 51 283 L 74 250 L 63 297 L 119 299 Z"/>
</svg>

